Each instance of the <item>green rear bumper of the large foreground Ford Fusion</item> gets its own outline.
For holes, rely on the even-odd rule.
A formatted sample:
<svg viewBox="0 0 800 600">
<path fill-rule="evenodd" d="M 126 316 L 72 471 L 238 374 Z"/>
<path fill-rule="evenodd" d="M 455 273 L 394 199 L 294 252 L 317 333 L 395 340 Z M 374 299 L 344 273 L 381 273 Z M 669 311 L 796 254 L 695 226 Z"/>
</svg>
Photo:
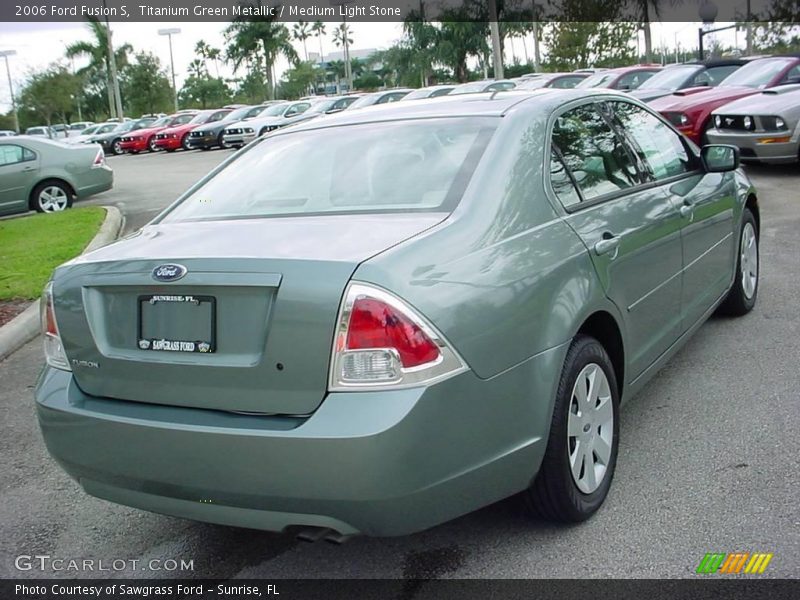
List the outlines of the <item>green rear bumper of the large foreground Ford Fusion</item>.
<svg viewBox="0 0 800 600">
<path fill-rule="evenodd" d="M 46 367 L 36 408 L 50 454 L 91 495 L 240 527 L 402 535 L 529 484 L 565 352 L 490 380 L 329 394 L 303 418 L 98 399 Z"/>
</svg>

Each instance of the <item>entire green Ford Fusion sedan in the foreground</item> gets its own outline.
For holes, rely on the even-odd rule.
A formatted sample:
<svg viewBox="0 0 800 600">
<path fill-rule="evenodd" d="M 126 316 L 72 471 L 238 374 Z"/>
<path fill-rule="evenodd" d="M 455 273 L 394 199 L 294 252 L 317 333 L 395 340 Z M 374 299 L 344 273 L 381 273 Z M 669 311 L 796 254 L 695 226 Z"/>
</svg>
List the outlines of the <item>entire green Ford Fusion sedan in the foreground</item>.
<svg viewBox="0 0 800 600">
<path fill-rule="evenodd" d="M 158 513 L 400 535 L 522 492 L 581 521 L 621 402 L 753 307 L 758 239 L 737 150 L 617 92 L 345 111 L 55 271 L 38 419 L 86 492 Z"/>
</svg>

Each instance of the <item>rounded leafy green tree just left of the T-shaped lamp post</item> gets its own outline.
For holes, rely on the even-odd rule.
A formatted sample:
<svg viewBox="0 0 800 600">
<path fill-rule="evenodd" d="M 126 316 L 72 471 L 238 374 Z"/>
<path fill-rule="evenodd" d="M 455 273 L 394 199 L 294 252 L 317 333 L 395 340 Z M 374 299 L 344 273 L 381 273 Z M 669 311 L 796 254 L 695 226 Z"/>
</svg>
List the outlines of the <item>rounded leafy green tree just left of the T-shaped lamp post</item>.
<svg viewBox="0 0 800 600">
<path fill-rule="evenodd" d="M 172 108 L 172 85 L 161 61 L 151 52 L 139 52 L 136 62 L 122 71 L 122 87 L 128 108 L 135 115 Z"/>
</svg>

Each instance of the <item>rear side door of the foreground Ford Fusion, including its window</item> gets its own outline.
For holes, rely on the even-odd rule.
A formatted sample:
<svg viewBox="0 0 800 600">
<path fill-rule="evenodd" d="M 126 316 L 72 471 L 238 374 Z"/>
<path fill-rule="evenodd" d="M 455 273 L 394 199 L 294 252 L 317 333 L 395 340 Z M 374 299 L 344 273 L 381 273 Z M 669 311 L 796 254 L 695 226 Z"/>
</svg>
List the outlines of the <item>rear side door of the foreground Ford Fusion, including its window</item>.
<svg viewBox="0 0 800 600">
<path fill-rule="evenodd" d="M 552 141 L 553 191 L 623 315 L 635 378 L 680 334 L 680 213 L 649 181 L 605 103 L 562 113 Z"/>
</svg>

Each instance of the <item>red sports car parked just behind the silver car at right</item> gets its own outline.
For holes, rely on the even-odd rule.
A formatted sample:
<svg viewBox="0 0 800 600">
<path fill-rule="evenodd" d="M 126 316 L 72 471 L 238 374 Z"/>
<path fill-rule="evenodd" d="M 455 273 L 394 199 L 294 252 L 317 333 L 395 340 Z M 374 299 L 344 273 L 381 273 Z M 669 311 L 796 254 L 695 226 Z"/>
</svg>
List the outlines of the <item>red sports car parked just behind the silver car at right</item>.
<svg viewBox="0 0 800 600">
<path fill-rule="evenodd" d="M 711 111 L 765 88 L 800 83 L 800 57 L 760 58 L 741 67 L 713 88 L 695 87 L 658 98 L 650 106 L 696 144 L 706 144 L 713 127 Z"/>
</svg>

